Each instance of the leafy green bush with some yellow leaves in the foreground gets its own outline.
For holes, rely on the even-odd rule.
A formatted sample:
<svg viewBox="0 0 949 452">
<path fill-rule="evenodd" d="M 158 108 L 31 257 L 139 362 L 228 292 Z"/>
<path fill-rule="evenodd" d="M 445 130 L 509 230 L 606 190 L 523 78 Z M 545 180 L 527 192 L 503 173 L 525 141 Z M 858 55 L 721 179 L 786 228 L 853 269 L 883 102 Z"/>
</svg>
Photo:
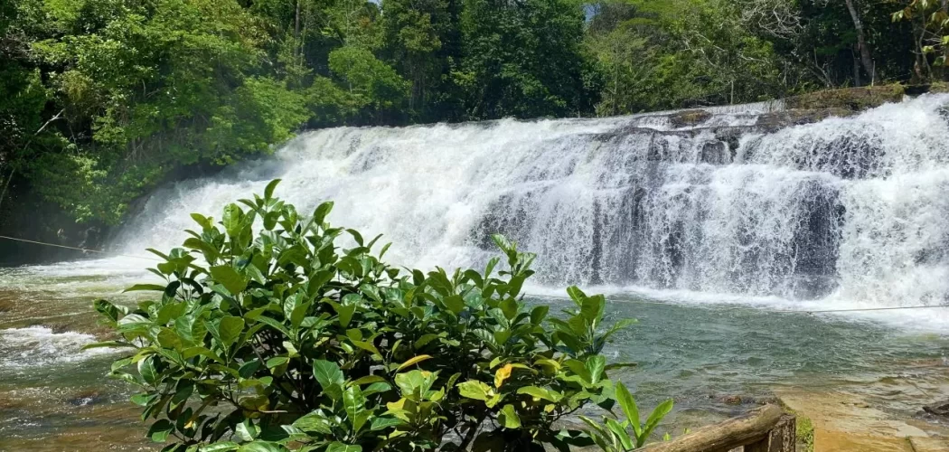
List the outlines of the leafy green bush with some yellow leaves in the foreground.
<svg viewBox="0 0 949 452">
<path fill-rule="evenodd" d="M 568 289 L 575 308 L 565 318 L 528 307 L 521 288 L 534 256 L 499 235 L 508 265 L 497 273 L 498 258 L 483 273 L 390 267 L 381 262 L 388 245 L 372 252 L 379 237 L 331 227 L 330 202 L 300 216 L 273 198 L 277 182 L 263 198 L 242 199 L 246 212 L 227 206 L 219 226 L 193 215 L 201 230 L 188 232 L 184 248 L 151 250 L 164 259 L 151 270 L 167 284 L 129 291 L 160 298 L 134 310 L 95 304 L 121 335 L 97 346 L 135 348 L 111 375 L 143 388 L 132 402 L 142 420 L 155 420 L 148 435 L 172 442 L 164 450 L 593 443 L 551 425 L 589 402 L 614 405 L 606 373 L 627 365 L 607 365 L 600 352 L 629 322 L 604 329 L 602 295 Z M 257 221 L 263 230 L 254 235 Z M 354 246 L 338 248 L 341 235 Z M 632 397 L 617 388 L 639 426 Z M 642 431 L 671 406 L 661 405 Z"/>
</svg>

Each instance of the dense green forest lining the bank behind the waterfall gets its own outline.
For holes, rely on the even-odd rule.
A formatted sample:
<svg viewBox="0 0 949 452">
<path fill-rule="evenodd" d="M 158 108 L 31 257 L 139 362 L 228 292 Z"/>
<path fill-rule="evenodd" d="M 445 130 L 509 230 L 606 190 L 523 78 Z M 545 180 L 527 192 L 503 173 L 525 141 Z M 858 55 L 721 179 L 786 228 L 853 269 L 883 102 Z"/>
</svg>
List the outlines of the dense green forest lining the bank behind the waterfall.
<svg viewBox="0 0 949 452">
<path fill-rule="evenodd" d="M 308 128 L 608 116 L 940 79 L 946 3 L 5 0 L 0 231 L 117 224 L 158 183 L 267 155 Z"/>
</svg>

